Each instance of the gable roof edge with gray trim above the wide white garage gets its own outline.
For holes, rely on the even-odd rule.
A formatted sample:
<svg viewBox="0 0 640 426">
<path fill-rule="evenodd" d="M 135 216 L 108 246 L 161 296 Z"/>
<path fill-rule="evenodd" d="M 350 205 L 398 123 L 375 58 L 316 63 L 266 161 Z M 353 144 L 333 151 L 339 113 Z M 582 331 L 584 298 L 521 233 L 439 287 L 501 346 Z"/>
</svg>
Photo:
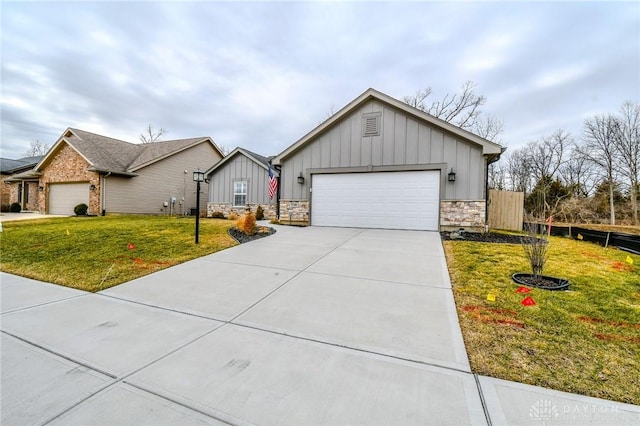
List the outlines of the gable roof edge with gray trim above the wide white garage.
<svg viewBox="0 0 640 426">
<path fill-rule="evenodd" d="M 454 124 L 451 124 L 444 120 L 436 118 L 430 114 L 427 114 L 424 111 L 421 111 L 415 107 L 412 107 L 411 105 L 405 102 L 399 101 L 398 99 L 392 98 L 389 95 L 386 95 L 382 92 L 379 92 L 375 89 L 370 88 L 370 89 L 367 89 L 360 96 L 355 98 L 353 101 L 349 102 L 346 106 L 344 106 L 334 115 L 332 115 L 331 117 L 329 117 L 328 119 L 320 123 L 316 128 L 314 128 L 309 133 L 304 135 L 297 142 L 293 143 L 284 151 L 282 151 L 280 154 L 276 155 L 273 159 L 273 164 L 281 164 L 281 161 L 283 159 L 287 158 L 289 155 L 296 152 L 298 149 L 304 146 L 307 142 L 314 139 L 316 136 L 323 133 L 325 130 L 329 129 L 334 124 L 336 124 L 337 122 L 342 120 L 344 117 L 346 117 L 348 114 L 357 110 L 361 105 L 363 105 L 364 103 L 370 100 L 376 100 L 380 103 L 399 109 L 405 112 L 407 115 L 416 118 L 417 120 L 427 122 L 433 126 L 439 127 L 450 133 L 453 133 L 454 135 L 459 136 L 460 138 L 466 141 L 470 141 L 472 143 L 480 145 L 482 147 L 482 153 L 484 155 L 499 156 L 504 151 L 504 148 L 502 148 L 502 146 L 498 145 L 495 142 L 491 142 L 487 139 L 481 138 L 480 136 L 474 133 L 471 133 Z"/>
</svg>

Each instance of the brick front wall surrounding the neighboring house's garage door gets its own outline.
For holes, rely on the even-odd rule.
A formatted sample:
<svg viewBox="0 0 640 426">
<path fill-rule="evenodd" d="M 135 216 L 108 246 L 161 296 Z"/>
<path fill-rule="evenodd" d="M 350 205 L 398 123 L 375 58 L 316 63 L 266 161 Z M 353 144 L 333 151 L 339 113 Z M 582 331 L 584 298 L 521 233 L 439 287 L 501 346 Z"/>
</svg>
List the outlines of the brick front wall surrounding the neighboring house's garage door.
<svg viewBox="0 0 640 426">
<path fill-rule="evenodd" d="M 44 191 L 40 191 L 39 208 L 41 213 L 48 213 L 49 205 L 49 184 L 50 183 L 72 183 L 88 182 L 95 185 L 93 191 L 89 191 L 89 214 L 100 213 L 100 175 L 97 172 L 87 170 L 89 163 L 66 143 L 62 144 L 56 155 L 42 170 L 40 186 Z"/>
</svg>

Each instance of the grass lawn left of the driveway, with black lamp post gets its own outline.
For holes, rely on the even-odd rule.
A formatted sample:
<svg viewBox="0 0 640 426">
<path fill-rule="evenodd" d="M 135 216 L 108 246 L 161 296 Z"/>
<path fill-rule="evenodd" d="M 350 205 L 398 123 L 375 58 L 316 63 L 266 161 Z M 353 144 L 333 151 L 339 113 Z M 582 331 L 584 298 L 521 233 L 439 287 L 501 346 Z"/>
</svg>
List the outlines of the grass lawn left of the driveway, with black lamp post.
<svg viewBox="0 0 640 426">
<path fill-rule="evenodd" d="M 166 216 L 52 218 L 4 222 L 0 270 L 100 291 L 231 247 L 233 221 Z M 131 244 L 131 246 L 130 246 Z"/>
</svg>

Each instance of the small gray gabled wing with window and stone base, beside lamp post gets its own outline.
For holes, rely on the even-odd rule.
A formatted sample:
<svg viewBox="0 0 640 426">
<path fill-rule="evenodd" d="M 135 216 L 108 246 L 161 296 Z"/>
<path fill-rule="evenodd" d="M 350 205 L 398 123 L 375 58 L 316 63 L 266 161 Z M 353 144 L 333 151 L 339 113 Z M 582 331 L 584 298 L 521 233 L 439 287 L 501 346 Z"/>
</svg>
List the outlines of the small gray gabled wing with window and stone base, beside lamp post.
<svg viewBox="0 0 640 426">
<path fill-rule="evenodd" d="M 277 177 L 275 170 L 271 171 Z M 209 183 L 207 216 L 220 212 L 241 215 L 258 206 L 268 219 L 276 217 L 276 194 L 269 197 L 269 158 L 236 148 L 205 172 Z"/>
</svg>

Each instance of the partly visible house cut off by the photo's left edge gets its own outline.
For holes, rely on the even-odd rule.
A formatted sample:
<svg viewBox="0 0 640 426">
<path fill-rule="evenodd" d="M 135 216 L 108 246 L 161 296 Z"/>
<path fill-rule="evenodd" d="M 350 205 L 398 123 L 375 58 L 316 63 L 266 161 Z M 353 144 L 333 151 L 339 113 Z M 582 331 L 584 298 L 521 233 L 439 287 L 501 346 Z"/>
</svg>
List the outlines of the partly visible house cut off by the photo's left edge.
<svg viewBox="0 0 640 426">
<path fill-rule="evenodd" d="M 42 160 L 42 156 L 23 157 L 17 160 L 0 158 L 0 206 L 7 211 L 12 203 L 19 203 L 23 210 L 37 210 L 38 178 L 17 182 L 8 181 L 14 175 L 33 169 Z"/>
</svg>

